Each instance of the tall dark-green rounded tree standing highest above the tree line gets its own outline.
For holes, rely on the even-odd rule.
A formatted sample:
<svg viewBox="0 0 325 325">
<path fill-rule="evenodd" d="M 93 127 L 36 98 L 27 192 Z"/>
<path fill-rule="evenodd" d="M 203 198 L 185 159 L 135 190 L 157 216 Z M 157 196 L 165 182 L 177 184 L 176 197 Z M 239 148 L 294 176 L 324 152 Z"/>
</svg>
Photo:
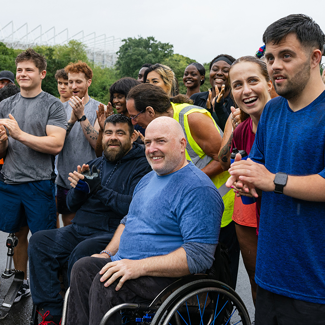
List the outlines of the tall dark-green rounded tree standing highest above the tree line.
<svg viewBox="0 0 325 325">
<path fill-rule="evenodd" d="M 173 45 L 155 40 L 153 36 L 147 38 L 123 39 L 124 44 L 118 50 L 116 61 L 120 77 L 133 77 L 138 75 L 144 63 L 161 63 L 173 55 Z"/>
</svg>

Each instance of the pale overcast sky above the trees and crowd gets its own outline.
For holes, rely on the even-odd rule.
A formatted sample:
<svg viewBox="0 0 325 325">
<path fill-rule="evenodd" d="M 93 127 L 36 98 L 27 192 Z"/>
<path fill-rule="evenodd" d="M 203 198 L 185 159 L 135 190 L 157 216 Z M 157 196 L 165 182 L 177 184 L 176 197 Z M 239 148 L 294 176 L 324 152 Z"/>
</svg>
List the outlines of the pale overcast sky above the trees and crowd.
<svg viewBox="0 0 325 325">
<path fill-rule="evenodd" d="M 70 35 L 154 36 L 200 63 L 221 53 L 254 55 L 265 28 L 290 14 L 307 14 L 325 31 L 324 0 L 7 0 L 1 13 L 1 27 L 13 20 L 16 28 L 27 22 Z"/>
</svg>

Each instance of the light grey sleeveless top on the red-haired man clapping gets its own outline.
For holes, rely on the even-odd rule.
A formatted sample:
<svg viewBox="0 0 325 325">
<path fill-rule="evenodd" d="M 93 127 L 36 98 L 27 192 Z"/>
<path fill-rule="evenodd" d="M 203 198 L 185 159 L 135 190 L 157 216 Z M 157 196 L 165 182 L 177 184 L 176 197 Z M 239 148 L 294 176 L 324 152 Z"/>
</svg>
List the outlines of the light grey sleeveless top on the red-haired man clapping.
<svg viewBox="0 0 325 325">
<path fill-rule="evenodd" d="M 99 101 L 89 97 L 89 101 L 84 107 L 84 114 L 92 126 L 94 126 L 97 118 L 96 110 L 98 110 L 99 104 Z M 69 120 L 72 107 L 68 101 L 63 105 L 65 107 L 67 120 Z M 76 122 L 65 139 L 65 145 L 63 146 L 62 151 L 58 155 L 56 165 L 58 176 L 56 177 L 55 182 L 66 189 L 70 189 L 70 181 L 68 180 L 69 173 L 77 170 L 78 165 L 82 165 L 83 163 L 96 158 L 94 148 L 84 136 L 80 123 Z"/>
</svg>

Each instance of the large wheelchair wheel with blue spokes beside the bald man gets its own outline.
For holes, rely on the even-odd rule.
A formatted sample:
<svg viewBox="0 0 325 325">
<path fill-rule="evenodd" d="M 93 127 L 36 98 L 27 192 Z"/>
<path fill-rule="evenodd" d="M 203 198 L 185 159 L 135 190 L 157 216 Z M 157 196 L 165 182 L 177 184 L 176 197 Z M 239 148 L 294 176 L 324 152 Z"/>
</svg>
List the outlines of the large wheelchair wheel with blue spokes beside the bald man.
<svg viewBox="0 0 325 325">
<path fill-rule="evenodd" d="M 238 294 L 216 280 L 190 282 L 162 304 L 151 325 L 250 325 Z"/>
</svg>

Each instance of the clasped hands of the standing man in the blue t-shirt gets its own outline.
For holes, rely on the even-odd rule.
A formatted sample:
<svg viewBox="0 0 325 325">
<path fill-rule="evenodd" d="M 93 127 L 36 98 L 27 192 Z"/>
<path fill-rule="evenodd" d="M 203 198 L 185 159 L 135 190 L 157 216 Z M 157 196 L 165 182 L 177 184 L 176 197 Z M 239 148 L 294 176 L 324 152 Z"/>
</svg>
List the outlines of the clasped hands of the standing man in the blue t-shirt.
<svg viewBox="0 0 325 325">
<path fill-rule="evenodd" d="M 265 192 L 274 191 L 275 174 L 269 172 L 263 164 L 253 162 L 251 159 L 242 160 L 238 153 L 235 162 L 228 169 L 230 177 L 226 182 L 227 187 L 233 187 L 237 196 L 245 195 L 258 197 L 259 189 Z"/>
</svg>

